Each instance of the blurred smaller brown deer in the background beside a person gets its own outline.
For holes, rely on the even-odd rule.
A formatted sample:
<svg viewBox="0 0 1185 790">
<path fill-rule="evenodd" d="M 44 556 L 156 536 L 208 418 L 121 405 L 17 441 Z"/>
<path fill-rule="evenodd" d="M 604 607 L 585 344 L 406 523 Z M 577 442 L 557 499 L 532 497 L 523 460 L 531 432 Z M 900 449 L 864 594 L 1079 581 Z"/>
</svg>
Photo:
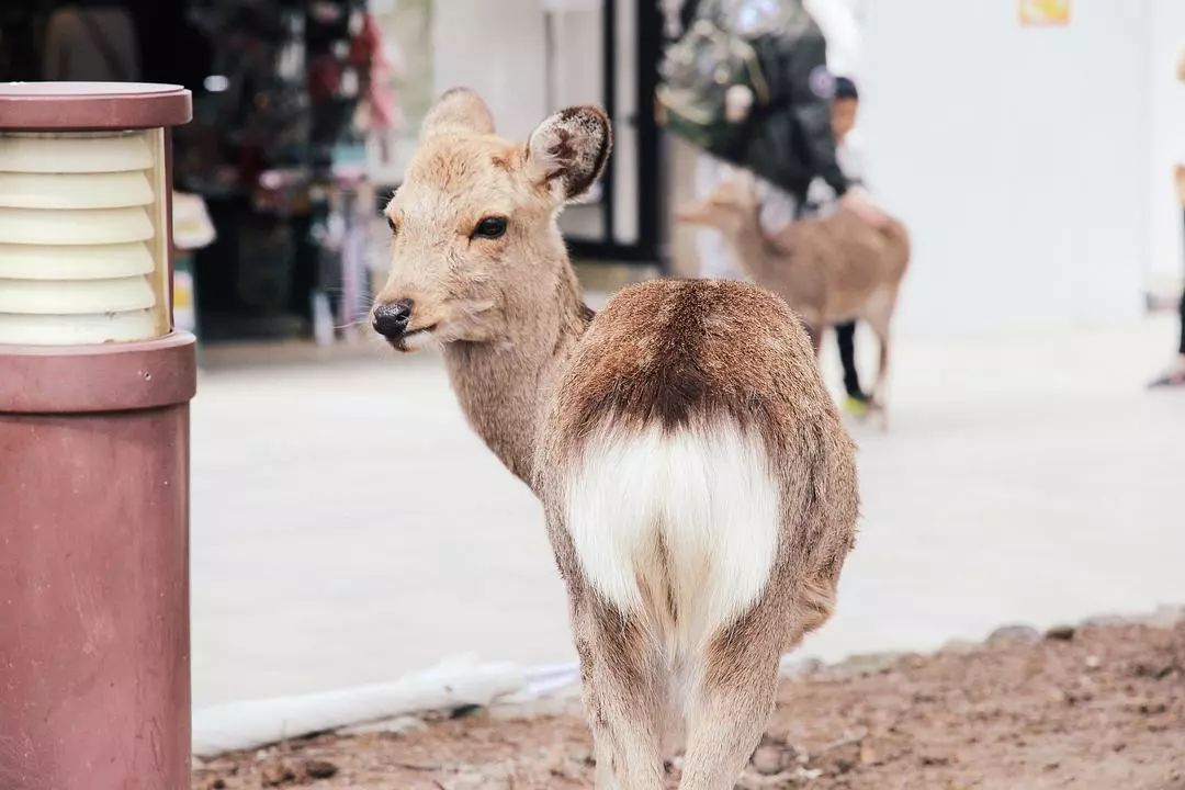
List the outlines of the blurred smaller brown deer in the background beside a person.
<svg viewBox="0 0 1185 790">
<path fill-rule="evenodd" d="M 816 355 L 827 327 L 852 319 L 867 322 L 880 346 L 871 405 L 888 428 L 890 325 L 909 268 L 905 226 L 891 217 L 873 224 L 839 207 L 767 235 L 760 208 L 752 181 L 741 175 L 678 217 L 720 231 L 741 269 L 802 319 Z"/>
</svg>

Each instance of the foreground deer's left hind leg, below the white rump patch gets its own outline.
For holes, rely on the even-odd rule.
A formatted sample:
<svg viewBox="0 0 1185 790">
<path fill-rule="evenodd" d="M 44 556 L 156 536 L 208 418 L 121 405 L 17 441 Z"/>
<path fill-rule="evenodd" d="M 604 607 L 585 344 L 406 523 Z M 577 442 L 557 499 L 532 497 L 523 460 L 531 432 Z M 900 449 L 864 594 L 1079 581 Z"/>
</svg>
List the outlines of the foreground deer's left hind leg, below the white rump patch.
<svg viewBox="0 0 1185 790">
<path fill-rule="evenodd" d="M 636 618 L 587 590 L 574 605 L 596 790 L 661 790 L 666 677 Z"/>
</svg>

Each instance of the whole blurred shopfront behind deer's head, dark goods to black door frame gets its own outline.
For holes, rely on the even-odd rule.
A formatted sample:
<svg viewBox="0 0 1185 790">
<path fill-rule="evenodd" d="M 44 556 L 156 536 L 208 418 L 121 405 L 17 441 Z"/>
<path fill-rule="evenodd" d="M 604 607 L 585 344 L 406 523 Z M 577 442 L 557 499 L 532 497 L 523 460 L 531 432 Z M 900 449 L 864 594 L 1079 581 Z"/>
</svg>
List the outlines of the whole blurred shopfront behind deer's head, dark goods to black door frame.
<svg viewBox="0 0 1185 790">
<path fill-rule="evenodd" d="M 0 81 L 179 83 L 175 184 L 213 226 L 181 258 L 204 342 L 348 336 L 385 262 L 390 197 L 433 97 L 468 84 L 508 136 L 595 102 L 617 129 L 564 217 L 585 258 L 654 262 L 659 14 L 645 0 L 30 0 L 0 8 Z M 187 205 L 193 206 L 192 200 Z M 376 271 L 372 271 L 373 269 Z M 192 282 L 192 294 L 185 284 Z"/>
</svg>

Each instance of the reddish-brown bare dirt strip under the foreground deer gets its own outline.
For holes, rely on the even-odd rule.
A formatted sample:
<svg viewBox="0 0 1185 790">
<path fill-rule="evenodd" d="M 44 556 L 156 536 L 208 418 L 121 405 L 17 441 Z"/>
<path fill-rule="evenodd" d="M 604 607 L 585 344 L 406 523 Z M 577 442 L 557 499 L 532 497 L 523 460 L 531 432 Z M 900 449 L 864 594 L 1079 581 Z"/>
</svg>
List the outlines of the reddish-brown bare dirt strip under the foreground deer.
<svg viewBox="0 0 1185 790">
<path fill-rule="evenodd" d="M 565 790 L 592 765 L 578 712 L 476 711 L 222 757 L 193 789 Z M 1185 790 L 1185 622 L 1001 629 L 788 679 L 738 788 Z"/>
</svg>

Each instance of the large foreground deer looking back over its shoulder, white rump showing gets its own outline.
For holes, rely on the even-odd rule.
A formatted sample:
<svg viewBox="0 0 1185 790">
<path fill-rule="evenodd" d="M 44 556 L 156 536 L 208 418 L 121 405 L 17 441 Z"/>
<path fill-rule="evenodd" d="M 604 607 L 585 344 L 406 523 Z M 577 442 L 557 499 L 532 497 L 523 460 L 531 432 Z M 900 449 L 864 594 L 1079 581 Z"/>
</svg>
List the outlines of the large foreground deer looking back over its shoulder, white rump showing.
<svg viewBox="0 0 1185 790">
<path fill-rule="evenodd" d="M 821 625 L 856 533 L 854 445 L 786 302 L 655 280 L 583 302 L 557 217 L 609 156 L 571 107 L 525 143 L 446 92 L 385 214 L 374 330 L 435 346 L 472 429 L 543 503 L 596 788 L 731 790 L 779 659 Z"/>
</svg>

